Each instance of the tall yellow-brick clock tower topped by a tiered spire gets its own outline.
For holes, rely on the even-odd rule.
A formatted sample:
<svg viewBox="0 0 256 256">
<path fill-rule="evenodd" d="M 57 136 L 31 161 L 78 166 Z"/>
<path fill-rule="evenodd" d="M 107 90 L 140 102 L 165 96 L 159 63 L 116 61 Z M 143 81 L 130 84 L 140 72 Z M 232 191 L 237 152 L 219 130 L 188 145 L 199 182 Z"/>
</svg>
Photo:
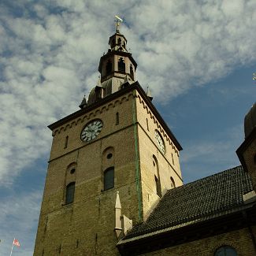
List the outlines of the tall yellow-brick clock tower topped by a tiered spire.
<svg viewBox="0 0 256 256">
<path fill-rule="evenodd" d="M 136 68 L 117 26 L 98 84 L 80 110 L 49 125 L 35 256 L 119 255 L 115 206 L 138 224 L 165 191 L 183 184 L 180 143 L 135 80 Z"/>
</svg>

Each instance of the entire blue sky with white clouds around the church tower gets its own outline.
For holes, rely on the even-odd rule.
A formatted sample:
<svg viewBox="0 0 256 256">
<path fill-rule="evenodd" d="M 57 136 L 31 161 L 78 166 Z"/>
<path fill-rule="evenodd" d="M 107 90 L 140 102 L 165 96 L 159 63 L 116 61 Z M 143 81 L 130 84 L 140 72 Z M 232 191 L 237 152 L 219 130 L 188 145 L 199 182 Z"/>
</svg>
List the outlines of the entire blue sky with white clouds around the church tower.
<svg viewBox="0 0 256 256">
<path fill-rule="evenodd" d="M 0 0 L 0 255 L 33 254 L 51 132 L 98 81 L 114 15 L 184 150 L 184 183 L 239 165 L 255 102 L 254 0 Z"/>
</svg>

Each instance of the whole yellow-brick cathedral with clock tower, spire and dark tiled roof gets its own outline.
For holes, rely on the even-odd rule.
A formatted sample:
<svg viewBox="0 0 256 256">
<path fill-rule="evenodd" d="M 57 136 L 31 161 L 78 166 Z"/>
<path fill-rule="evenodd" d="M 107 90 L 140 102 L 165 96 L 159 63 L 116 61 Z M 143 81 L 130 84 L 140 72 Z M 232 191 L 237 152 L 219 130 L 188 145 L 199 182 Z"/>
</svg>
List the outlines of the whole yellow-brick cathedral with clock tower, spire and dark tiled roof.
<svg viewBox="0 0 256 256">
<path fill-rule="evenodd" d="M 182 147 L 135 78 L 117 30 L 80 110 L 53 143 L 35 256 L 256 255 L 256 104 L 240 166 L 183 184 Z"/>
</svg>

